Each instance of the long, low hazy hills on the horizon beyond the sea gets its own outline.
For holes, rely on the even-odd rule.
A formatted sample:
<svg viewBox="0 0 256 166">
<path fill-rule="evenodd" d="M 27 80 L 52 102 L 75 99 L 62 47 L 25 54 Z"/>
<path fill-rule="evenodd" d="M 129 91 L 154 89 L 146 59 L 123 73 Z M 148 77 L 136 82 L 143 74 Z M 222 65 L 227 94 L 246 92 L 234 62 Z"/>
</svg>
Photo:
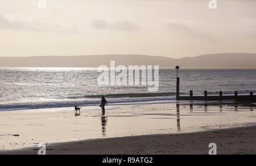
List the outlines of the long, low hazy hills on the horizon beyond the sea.
<svg viewBox="0 0 256 166">
<path fill-rule="evenodd" d="M 159 65 L 160 68 L 256 68 L 254 53 L 221 53 L 172 59 L 147 55 L 90 55 L 0 57 L 0 67 L 99 67 L 116 65 Z"/>
</svg>

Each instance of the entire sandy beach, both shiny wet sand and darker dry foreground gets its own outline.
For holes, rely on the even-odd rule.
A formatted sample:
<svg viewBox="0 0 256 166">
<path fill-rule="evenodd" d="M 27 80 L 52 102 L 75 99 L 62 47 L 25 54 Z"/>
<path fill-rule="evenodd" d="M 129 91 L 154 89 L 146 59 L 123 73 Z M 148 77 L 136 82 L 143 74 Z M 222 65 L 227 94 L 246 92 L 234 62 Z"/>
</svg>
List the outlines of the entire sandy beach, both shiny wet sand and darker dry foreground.
<svg viewBox="0 0 256 166">
<path fill-rule="evenodd" d="M 0 154 L 255 154 L 255 106 L 144 102 L 0 112 Z"/>
</svg>

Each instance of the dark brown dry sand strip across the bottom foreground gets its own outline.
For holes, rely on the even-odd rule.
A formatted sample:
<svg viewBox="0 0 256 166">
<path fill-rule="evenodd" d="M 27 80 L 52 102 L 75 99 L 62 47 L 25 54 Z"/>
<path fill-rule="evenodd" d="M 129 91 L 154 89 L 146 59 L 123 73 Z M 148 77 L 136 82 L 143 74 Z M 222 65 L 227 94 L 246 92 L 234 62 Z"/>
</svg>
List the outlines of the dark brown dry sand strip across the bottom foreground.
<svg viewBox="0 0 256 166">
<path fill-rule="evenodd" d="M 256 154 L 256 125 L 180 134 L 152 134 L 100 138 L 46 145 L 48 155 L 207 155 L 209 143 L 217 154 Z M 37 155 L 38 147 L 0 151 L 0 155 Z"/>
</svg>

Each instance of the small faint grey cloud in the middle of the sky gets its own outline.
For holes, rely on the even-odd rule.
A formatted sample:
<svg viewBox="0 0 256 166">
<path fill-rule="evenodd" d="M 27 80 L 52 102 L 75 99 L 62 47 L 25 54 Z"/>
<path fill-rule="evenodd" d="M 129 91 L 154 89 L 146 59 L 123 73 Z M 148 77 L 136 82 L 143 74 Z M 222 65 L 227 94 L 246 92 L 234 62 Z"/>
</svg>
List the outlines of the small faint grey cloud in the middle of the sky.
<svg viewBox="0 0 256 166">
<path fill-rule="evenodd" d="M 136 24 L 128 22 L 126 20 L 108 23 L 105 20 L 91 20 L 90 24 L 96 29 L 108 29 L 108 30 L 119 30 L 119 31 L 137 31 L 139 27 Z"/>
</svg>

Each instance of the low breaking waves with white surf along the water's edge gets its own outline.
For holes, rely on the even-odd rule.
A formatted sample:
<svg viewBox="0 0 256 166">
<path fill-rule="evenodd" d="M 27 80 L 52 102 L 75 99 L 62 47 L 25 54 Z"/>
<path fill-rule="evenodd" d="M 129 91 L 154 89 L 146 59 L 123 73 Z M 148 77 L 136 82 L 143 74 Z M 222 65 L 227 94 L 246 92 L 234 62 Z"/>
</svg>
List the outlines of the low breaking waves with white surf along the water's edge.
<svg viewBox="0 0 256 166">
<path fill-rule="evenodd" d="M 238 94 L 248 94 L 250 92 L 256 93 L 256 90 L 238 90 Z M 188 93 L 180 93 L 181 96 L 188 96 Z M 208 92 L 209 95 L 218 95 L 219 92 Z M 224 95 L 232 95 L 234 91 L 224 91 Z M 201 95 L 201 93 L 195 93 Z M 125 93 L 125 94 L 107 94 L 105 97 L 112 105 L 121 103 L 138 103 L 138 102 L 152 102 L 152 101 L 174 101 L 176 93 Z M 0 104 L 0 111 L 11 110 L 30 110 L 30 109 L 49 109 L 57 107 L 73 107 L 73 106 L 96 106 L 100 105 L 101 95 L 90 95 L 80 97 L 68 97 L 65 100 L 69 101 L 50 101 L 50 102 L 26 102 L 26 103 L 6 103 Z M 78 100 L 79 99 L 79 100 Z"/>
</svg>

